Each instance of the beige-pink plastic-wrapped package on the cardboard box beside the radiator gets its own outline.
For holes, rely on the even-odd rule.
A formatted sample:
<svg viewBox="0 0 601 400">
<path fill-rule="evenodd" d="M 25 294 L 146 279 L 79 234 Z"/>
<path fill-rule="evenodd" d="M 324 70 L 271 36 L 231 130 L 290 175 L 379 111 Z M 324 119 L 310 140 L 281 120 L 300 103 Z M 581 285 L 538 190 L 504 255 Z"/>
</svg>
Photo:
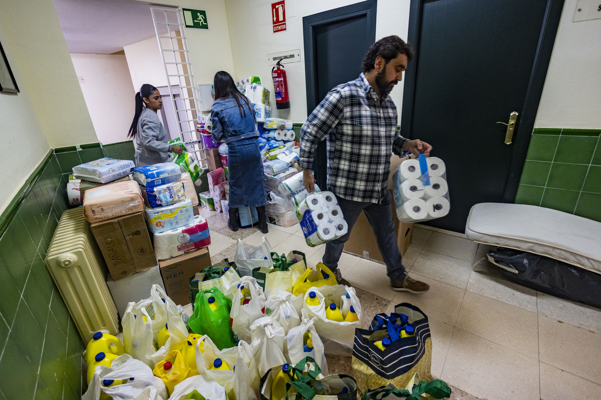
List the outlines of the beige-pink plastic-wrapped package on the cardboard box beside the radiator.
<svg viewBox="0 0 601 400">
<path fill-rule="evenodd" d="M 104 221 L 142 210 L 142 192 L 134 181 L 103 185 L 84 192 L 84 216 L 90 222 Z"/>
</svg>

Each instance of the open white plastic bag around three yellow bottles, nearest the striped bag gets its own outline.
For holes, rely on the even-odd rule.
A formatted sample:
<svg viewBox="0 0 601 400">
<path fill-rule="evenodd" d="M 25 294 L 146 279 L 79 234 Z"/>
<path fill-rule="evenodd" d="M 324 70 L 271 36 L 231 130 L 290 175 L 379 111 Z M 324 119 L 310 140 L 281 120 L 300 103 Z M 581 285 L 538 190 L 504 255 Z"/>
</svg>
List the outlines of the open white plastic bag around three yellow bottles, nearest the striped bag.
<svg viewBox="0 0 601 400">
<path fill-rule="evenodd" d="M 317 294 L 317 299 L 320 302 L 319 305 L 310 306 L 307 304 L 307 298 L 311 291 Z M 350 295 L 351 305 L 355 308 L 359 321 L 338 322 L 326 318 L 326 306 L 336 303 L 338 308 L 340 308 L 340 297 L 346 295 L 346 293 Z M 315 329 L 319 333 L 320 338 L 322 338 L 326 354 L 352 356 L 355 329 L 362 327 L 361 321 L 363 320 L 363 311 L 354 288 L 344 285 L 325 285 L 319 288 L 311 287 L 305 293 L 303 308 L 307 310 L 309 318 L 317 317 Z"/>
</svg>

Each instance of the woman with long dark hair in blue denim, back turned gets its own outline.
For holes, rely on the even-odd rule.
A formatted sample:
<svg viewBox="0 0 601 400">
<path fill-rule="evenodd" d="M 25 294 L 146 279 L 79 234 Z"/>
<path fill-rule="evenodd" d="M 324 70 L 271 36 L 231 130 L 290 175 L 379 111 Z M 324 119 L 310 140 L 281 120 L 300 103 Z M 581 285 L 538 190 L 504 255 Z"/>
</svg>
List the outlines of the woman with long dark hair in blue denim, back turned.
<svg viewBox="0 0 601 400">
<path fill-rule="evenodd" d="M 236 221 L 239 207 L 256 207 L 259 229 L 267 233 L 263 188 L 263 162 L 255 126 L 255 110 L 225 71 L 215 74 L 215 103 L 211 108 L 213 140 L 228 145 L 228 169 L 230 178 L 230 219 L 228 226 L 238 230 Z"/>
</svg>

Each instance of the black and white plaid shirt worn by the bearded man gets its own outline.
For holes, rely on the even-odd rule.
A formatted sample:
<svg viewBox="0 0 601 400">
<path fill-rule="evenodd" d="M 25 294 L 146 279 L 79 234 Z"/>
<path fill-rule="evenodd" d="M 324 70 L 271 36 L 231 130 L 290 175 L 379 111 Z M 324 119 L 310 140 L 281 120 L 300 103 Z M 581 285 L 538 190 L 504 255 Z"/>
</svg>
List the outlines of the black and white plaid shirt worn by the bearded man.
<svg viewBox="0 0 601 400">
<path fill-rule="evenodd" d="M 328 189 L 343 199 L 379 203 L 388 190 L 390 157 L 401 155 L 407 139 L 397 133 L 397 107 L 382 103 L 365 79 L 336 86 L 301 128 L 303 169 L 313 167 L 317 142 L 327 139 Z"/>
</svg>

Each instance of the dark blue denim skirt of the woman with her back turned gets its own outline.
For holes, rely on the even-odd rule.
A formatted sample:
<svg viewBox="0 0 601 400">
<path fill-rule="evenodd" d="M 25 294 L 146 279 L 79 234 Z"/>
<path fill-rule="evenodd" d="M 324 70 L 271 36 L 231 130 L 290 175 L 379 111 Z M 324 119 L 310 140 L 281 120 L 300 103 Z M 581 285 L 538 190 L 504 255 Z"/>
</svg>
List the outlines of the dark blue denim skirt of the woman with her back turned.
<svg viewBox="0 0 601 400">
<path fill-rule="evenodd" d="M 256 137 L 228 143 L 230 207 L 259 207 L 267 204 L 263 187 L 263 162 Z"/>
</svg>

